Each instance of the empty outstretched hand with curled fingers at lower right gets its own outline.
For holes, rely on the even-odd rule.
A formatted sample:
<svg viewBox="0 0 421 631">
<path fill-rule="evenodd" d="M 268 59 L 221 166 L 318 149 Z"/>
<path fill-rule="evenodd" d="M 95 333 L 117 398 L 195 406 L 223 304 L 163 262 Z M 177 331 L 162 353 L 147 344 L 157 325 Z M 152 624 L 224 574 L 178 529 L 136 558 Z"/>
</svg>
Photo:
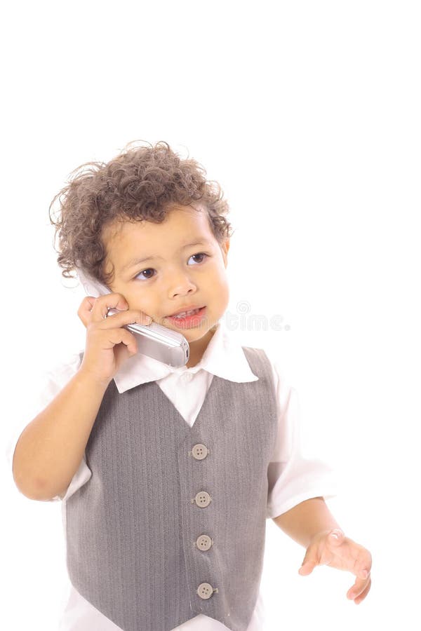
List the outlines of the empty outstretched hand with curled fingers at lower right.
<svg viewBox="0 0 421 631">
<path fill-rule="evenodd" d="M 355 604 L 360 604 L 370 591 L 371 562 L 370 552 L 366 548 L 346 537 L 342 530 L 335 528 L 322 531 L 312 538 L 298 574 L 308 576 L 316 565 L 328 565 L 350 571 L 356 579 L 347 592 L 347 598 L 354 600 Z"/>
</svg>

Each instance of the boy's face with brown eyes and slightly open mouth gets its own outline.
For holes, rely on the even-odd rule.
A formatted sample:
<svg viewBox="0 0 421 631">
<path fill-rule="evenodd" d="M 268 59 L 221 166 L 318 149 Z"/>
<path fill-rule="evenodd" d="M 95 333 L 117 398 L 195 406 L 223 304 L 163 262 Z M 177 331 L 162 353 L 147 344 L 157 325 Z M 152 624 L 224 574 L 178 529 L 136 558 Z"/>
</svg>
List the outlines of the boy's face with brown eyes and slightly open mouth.
<svg viewBox="0 0 421 631">
<path fill-rule="evenodd" d="M 190 347 L 187 366 L 196 365 L 228 305 L 229 238 L 218 243 L 206 211 L 174 205 L 160 224 L 109 224 L 102 239 L 107 248 L 106 271 L 111 271 L 110 263 L 114 265 L 109 288 L 123 294 L 129 308 L 140 309 L 154 322 L 182 333 Z M 145 260 L 135 264 L 135 259 Z M 174 323 L 166 317 L 202 306 L 206 307 L 203 316 L 190 323 Z"/>
</svg>

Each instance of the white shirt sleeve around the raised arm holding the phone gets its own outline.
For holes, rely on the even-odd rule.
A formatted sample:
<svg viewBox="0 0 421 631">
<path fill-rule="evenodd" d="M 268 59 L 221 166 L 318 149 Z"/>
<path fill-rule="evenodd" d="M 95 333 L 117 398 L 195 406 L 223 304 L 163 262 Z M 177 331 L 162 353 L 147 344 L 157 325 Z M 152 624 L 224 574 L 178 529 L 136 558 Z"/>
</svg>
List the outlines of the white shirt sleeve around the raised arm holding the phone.
<svg viewBox="0 0 421 631">
<path fill-rule="evenodd" d="M 15 448 L 23 430 L 56 395 L 72 379 L 80 367 L 81 354 L 74 353 L 67 362 L 60 362 L 51 370 L 41 371 L 38 376 L 34 376 L 29 386 L 29 392 L 25 393 L 25 398 L 19 401 L 13 414 L 13 428 L 8 434 L 6 446 L 6 459 L 10 466 L 9 470 L 13 480 L 13 455 Z M 91 477 L 91 470 L 86 465 L 85 454 L 81 460 L 79 470 L 75 473 L 72 482 L 69 484 L 65 495 L 55 496 L 51 501 L 67 499 L 77 488 L 87 482 Z M 15 484 L 13 480 L 13 484 Z"/>
</svg>

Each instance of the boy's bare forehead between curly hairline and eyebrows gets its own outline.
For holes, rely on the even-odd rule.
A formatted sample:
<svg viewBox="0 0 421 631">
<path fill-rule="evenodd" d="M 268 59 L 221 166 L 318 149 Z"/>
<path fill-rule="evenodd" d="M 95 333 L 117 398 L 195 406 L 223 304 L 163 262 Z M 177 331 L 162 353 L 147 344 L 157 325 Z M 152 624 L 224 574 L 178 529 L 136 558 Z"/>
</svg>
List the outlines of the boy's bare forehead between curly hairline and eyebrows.
<svg viewBox="0 0 421 631">
<path fill-rule="evenodd" d="M 163 222 L 129 219 L 114 220 L 104 226 L 102 240 L 112 259 L 128 258 L 131 253 L 158 255 L 168 247 L 177 249 L 190 237 L 215 241 L 206 210 L 173 206 Z"/>
</svg>

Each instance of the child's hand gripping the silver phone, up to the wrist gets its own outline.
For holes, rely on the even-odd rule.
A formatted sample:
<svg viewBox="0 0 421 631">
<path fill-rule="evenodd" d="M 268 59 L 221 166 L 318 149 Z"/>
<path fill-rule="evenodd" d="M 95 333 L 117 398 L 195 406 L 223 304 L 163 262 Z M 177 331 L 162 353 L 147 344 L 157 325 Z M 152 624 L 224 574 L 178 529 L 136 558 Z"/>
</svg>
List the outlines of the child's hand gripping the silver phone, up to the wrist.
<svg viewBox="0 0 421 631">
<path fill-rule="evenodd" d="M 121 309 L 121 313 L 107 316 L 109 308 Z M 116 293 L 83 298 L 77 314 L 86 326 L 86 348 L 79 370 L 109 384 L 123 362 L 138 352 L 135 335 L 124 325 L 149 325 L 152 318 L 129 309 L 123 295 Z"/>
</svg>

